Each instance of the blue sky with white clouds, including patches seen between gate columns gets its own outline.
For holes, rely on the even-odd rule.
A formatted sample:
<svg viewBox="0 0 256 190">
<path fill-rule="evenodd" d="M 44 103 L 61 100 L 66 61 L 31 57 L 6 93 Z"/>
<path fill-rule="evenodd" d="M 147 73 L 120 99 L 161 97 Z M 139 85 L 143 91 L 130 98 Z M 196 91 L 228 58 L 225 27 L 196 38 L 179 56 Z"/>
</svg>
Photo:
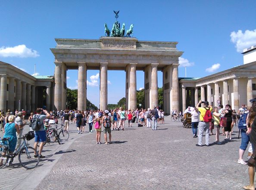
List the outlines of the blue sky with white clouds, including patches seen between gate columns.
<svg viewBox="0 0 256 190">
<path fill-rule="evenodd" d="M 54 38 L 99 39 L 120 10 L 126 29 L 147 41 L 177 41 L 184 51 L 179 77 L 203 77 L 243 64 L 243 48 L 256 45 L 255 0 L 0 0 L 0 60 L 29 74 L 53 75 Z M 47 69 L 46 69 L 47 68 Z M 87 71 L 87 99 L 99 105 L 97 70 Z M 77 87 L 78 71 L 68 70 L 67 86 Z M 158 72 L 162 87 L 162 72 Z M 108 103 L 125 97 L 125 72 L 108 71 Z M 144 72 L 137 71 L 137 89 Z"/>
</svg>

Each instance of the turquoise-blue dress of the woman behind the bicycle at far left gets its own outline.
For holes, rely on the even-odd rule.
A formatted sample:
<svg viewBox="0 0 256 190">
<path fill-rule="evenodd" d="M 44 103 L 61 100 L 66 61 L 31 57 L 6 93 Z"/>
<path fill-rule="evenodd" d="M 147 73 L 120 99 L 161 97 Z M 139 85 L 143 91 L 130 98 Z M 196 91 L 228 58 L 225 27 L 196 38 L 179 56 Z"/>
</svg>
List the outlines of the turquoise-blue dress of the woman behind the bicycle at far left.
<svg viewBox="0 0 256 190">
<path fill-rule="evenodd" d="M 9 151 L 14 152 L 15 148 L 16 148 L 16 143 L 17 143 L 15 123 L 6 124 L 5 128 L 4 128 L 4 131 L 5 131 L 5 133 L 4 133 L 3 138 L 10 137 L 10 139 L 9 139 Z"/>
</svg>

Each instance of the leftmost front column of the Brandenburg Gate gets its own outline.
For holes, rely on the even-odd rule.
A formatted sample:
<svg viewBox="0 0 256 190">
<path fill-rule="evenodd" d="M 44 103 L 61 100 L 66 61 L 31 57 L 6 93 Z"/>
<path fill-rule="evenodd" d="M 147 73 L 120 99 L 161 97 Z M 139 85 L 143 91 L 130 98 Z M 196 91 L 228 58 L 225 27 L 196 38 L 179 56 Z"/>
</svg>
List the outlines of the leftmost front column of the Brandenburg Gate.
<svg viewBox="0 0 256 190">
<path fill-rule="evenodd" d="M 62 109 L 62 63 L 55 63 L 55 89 L 54 89 L 54 106 L 56 110 Z"/>
</svg>

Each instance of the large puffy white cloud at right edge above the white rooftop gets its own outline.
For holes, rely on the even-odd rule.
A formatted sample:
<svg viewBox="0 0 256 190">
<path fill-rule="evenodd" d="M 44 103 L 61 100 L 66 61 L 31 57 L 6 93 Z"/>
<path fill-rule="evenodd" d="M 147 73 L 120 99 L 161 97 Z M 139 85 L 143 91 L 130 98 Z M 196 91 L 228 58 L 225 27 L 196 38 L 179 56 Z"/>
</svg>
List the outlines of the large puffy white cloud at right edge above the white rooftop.
<svg viewBox="0 0 256 190">
<path fill-rule="evenodd" d="M 256 29 L 255 30 L 242 30 L 237 32 L 233 31 L 230 34 L 231 42 L 235 44 L 237 52 L 243 52 L 245 48 L 250 48 L 252 45 L 256 45 Z"/>
</svg>

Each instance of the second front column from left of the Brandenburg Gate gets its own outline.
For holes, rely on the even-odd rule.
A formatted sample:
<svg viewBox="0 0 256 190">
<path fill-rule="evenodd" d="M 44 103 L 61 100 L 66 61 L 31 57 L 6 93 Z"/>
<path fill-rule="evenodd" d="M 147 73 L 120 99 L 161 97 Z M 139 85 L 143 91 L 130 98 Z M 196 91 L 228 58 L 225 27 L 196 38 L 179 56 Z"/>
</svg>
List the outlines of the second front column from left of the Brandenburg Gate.
<svg viewBox="0 0 256 190">
<path fill-rule="evenodd" d="M 86 64 L 78 62 L 78 110 L 86 110 L 86 70 Z"/>
</svg>

